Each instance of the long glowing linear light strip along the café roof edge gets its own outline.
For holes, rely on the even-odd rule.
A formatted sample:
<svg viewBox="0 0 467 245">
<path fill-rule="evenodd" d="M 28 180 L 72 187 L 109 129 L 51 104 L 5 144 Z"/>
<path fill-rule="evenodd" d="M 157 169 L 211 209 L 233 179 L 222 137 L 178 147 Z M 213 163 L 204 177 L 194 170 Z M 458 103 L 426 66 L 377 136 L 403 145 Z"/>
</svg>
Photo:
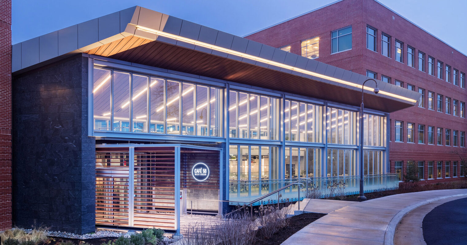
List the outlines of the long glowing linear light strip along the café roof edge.
<svg viewBox="0 0 467 245">
<path fill-rule="evenodd" d="M 316 76 L 316 77 L 319 77 L 319 78 L 324 78 L 324 79 L 327 79 L 327 80 L 331 80 L 333 82 L 339 82 L 341 84 L 349 85 L 349 86 L 352 86 L 352 87 L 355 87 L 355 88 L 361 88 L 360 84 L 357 84 L 357 83 L 354 83 L 354 82 L 348 82 L 348 81 L 340 80 L 340 79 L 337 79 L 337 78 L 334 78 L 334 77 L 330 77 L 330 76 L 322 75 L 322 74 L 319 74 L 319 73 L 311 72 L 311 71 L 308 71 L 308 70 L 305 70 L 305 69 L 285 65 L 285 64 L 282 64 L 282 63 L 279 63 L 279 62 L 269 61 L 267 59 L 263 59 L 263 58 L 260 58 L 260 57 L 254 56 L 254 55 L 245 54 L 245 53 L 241 53 L 241 52 L 238 52 L 238 51 L 233 51 L 231 49 L 222 48 L 222 47 L 215 46 L 215 45 L 212 45 L 212 44 L 209 44 L 209 43 L 196 41 L 196 40 L 189 39 L 189 38 L 186 38 L 186 37 L 182 37 L 182 36 L 162 32 L 162 31 L 158 31 L 158 30 L 155 30 L 155 29 L 142 27 L 142 26 L 138 26 L 138 25 L 136 25 L 136 29 L 140 29 L 142 31 L 149 32 L 149 33 L 154 33 L 156 35 L 160 35 L 160 36 L 167 37 L 167 38 L 170 38 L 170 39 L 184 41 L 184 42 L 191 43 L 191 44 L 194 44 L 194 45 L 197 45 L 197 46 L 200 46 L 200 47 L 210 48 L 210 49 L 217 50 L 217 51 L 220 51 L 220 52 L 223 52 L 223 53 L 226 53 L 226 54 L 233 54 L 233 55 L 248 58 L 248 59 L 251 59 L 251 60 L 254 60 L 254 61 L 260 61 L 260 62 L 269 64 L 269 65 L 274 65 L 274 66 L 289 69 L 289 70 L 292 70 L 292 71 L 297 71 L 297 72 L 301 72 L 301 73 L 304 73 L 304 74 Z M 363 87 L 363 88 L 365 90 L 373 92 L 373 88 L 366 87 L 366 86 Z M 389 95 L 391 97 L 398 98 L 398 99 L 405 100 L 405 101 L 412 102 L 412 103 L 417 102 L 416 100 L 413 100 L 413 99 L 410 99 L 410 98 L 407 98 L 407 97 L 404 97 L 404 96 L 401 96 L 401 95 L 396 95 L 396 94 L 393 94 L 393 93 L 389 93 L 389 92 L 386 92 L 386 91 L 382 91 L 382 90 L 380 90 L 380 93 L 382 95 Z"/>
</svg>

